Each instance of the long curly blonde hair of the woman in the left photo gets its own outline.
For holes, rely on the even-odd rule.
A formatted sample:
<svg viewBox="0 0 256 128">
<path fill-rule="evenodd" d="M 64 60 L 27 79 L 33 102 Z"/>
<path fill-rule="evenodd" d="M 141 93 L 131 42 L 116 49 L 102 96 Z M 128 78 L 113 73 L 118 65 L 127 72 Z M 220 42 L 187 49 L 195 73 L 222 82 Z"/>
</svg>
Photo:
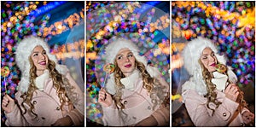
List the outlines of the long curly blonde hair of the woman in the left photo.
<svg viewBox="0 0 256 128">
<path fill-rule="evenodd" d="M 32 104 L 33 93 L 36 92 L 36 90 L 38 90 L 35 84 L 35 79 L 38 77 L 38 75 L 36 74 L 37 68 L 32 62 L 32 57 L 29 56 L 28 59 L 31 65 L 30 79 L 29 79 L 30 84 L 27 92 L 25 92 L 20 96 L 21 98 L 23 98 L 21 107 L 24 108 L 23 114 L 25 114 L 27 109 L 24 104 L 26 103 L 29 106 L 28 111 L 33 115 L 35 115 L 36 116 L 35 118 L 38 118 L 38 114 L 35 113 L 35 108 L 34 108 L 34 105 Z M 49 70 L 49 78 L 53 80 L 53 86 L 56 89 L 57 96 L 60 98 L 61 110 L 63 109 L 64 104 L 73 105 L 73 102 L 76 102 L 78 97 L 75 94 L 73 94 L 74 93 L 73 86 L 70 85 L 68 79 L 55 69 L 54 61 L 49 60 L 47 69 Z"/>
</svg>

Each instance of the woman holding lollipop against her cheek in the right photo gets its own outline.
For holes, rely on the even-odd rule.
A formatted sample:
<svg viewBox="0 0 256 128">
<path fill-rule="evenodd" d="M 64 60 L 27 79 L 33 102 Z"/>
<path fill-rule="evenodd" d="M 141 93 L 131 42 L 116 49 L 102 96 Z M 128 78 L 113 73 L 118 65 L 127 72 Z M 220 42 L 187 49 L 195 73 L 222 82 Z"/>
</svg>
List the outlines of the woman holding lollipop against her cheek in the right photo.
<svg viewBox="0 0 256 128">
<path fill-rule="evenodd" d="M 182 86 L 183 102 L 195 126 L 244 126 L 254 120 L 236 74 L 207 38 L 195 38 L 183 49 L 184 67 L 191 75 Z"/>
</svg>

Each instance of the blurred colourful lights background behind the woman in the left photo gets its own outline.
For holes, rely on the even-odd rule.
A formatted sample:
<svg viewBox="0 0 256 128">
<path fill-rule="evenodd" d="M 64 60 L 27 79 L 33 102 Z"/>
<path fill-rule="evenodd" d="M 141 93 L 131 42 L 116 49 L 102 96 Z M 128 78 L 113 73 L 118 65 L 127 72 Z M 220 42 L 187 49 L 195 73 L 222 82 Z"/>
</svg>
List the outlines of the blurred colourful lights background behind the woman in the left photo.
<svg viewBox="0 0 256 128">
<path fill-rule="evenodd" d="M 21 77 L 15 63 L 15 49 L 20 40 L 29 35 L 45 38 L 50 52 L 60 64 L 67 65 L 84 91 L 84 2 L 2 1 L 1 68 L 8 67 L 9 75 L 1 73 L 1 99 L 5 92 L 15 97 Z M 3 111 L 1 117 L 4 126 Z"/>
</svg>

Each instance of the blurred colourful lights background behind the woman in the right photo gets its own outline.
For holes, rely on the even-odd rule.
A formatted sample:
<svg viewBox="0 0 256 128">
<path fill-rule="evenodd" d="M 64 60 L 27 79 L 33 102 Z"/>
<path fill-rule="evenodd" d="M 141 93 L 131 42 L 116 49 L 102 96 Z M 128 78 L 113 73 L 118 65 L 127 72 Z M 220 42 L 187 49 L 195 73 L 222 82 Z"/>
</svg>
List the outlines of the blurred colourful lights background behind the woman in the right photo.
<svg viewBox="0 0 256 128">
<path fill-rule="evenodd" d="M 254 113 L 255 2 L 172 2 L 172 126 L 193 126 L 181 103 L 181 85 L 189 75 L 180 52 L 198 36 L 212 39 L 227 56 Z"/>
</svg>

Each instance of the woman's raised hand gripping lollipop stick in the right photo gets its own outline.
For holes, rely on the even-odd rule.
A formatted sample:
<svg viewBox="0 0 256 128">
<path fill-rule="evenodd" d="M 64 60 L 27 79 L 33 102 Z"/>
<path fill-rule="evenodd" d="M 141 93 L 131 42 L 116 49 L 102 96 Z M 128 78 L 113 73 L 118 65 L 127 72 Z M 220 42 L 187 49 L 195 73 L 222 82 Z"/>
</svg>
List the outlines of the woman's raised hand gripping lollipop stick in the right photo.
<svg viewBox="0 0 256 128">
<path fill-rule="evenodd" d="M 228 87 L 224 90 L 224 94 L 230 100 L 236 102 L 237 96 L 239 95 L 239 89 L 236 84 L 229 84 Z"/>
</svg>

